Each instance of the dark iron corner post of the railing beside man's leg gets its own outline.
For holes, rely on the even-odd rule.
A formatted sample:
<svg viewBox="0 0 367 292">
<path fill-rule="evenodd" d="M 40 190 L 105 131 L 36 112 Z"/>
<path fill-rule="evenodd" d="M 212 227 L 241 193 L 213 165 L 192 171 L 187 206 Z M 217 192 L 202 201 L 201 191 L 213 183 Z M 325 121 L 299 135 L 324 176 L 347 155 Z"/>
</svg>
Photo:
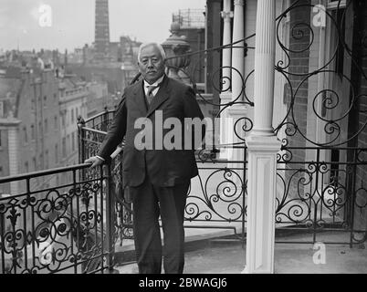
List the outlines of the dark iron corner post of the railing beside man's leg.
<svg viewBox="0 0 367 292">
<path fill-rule="evenodd" d="M 106 251 L 106 258 L 107 258 L 107 267 L 110 272 L 113 271 L 114 266 L 114 228 L 115 228 L 115 221 L 114 221 L 114 210 L 115 210 L 115 200 L 114 200 L 114 185 L 113 185 L 113 178 L 111 172 L 111 165 L 105 164 L 103 166 L 103 173 L 107 179 L 106 182 L 106 237 L 104 240 L 105 243 L 105 251 Z"/>
</svg>

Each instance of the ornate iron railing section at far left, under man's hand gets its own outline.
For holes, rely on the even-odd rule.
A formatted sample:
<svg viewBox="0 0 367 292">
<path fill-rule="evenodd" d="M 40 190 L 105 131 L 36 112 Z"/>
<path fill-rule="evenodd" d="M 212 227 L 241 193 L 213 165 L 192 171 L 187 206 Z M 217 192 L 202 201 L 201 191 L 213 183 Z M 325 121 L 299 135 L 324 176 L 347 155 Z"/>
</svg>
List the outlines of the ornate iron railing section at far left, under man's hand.
<svg viewBox="0 0 367 292">
<path fill-rule="evenodd" d="M 106 177 L 99 170 L 98 179 L 79 181 L 86 167 L 19 176 L 16 183 L 24 183 L 25 190 L 0 199 L 3 274 L 103 273 L 110 268 Z M 65 174 L 72 177 L 70 183 L 35 183 Z"/>
</svg>

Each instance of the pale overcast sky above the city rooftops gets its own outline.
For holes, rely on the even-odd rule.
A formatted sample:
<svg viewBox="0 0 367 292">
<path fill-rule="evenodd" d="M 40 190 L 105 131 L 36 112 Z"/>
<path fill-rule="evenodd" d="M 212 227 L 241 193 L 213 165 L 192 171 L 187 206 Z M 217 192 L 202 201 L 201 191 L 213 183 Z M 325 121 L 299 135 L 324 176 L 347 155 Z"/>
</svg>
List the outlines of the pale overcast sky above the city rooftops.
<svg viewBox="0 0 367 292">
<path fill-rule="evenodd" d="M 73 50 L 94 41 L 94 0 L 0 0 L 0 49 Z M 122 35 L 163 42 L 172 14 L 203 8 L 205 0 L 110 0 L 110 41 Z M 42 27 L 38 11 L 52 8 L 52 25 Z"/>
</svg>

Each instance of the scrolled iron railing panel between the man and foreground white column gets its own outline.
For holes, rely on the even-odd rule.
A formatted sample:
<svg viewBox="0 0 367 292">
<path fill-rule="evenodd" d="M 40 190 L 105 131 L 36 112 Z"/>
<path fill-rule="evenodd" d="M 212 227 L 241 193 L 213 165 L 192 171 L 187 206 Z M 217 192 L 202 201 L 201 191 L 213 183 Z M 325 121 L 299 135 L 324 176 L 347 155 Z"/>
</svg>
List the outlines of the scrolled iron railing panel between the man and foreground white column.
<svg viewBox="0 0 367 292">
<path fill-rule="evenodd" d="M 228 148 L 227 148 L 228 149 Z M 232 146 L 243 153 L 239 162 L 221 161 L 204 155 L 197 160 L 199 175 L 192 180 L 186 201 L 186 222 L 246 223 L 246 147 Z M 200 152 L 200 151 L 199 151 Z"/>
</svg>

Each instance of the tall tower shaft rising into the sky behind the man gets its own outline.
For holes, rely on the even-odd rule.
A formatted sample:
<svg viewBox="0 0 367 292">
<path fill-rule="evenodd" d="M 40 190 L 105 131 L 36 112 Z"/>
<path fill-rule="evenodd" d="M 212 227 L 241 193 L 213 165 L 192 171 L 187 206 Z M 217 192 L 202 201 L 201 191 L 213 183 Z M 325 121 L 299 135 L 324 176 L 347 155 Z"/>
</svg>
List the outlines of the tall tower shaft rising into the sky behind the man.
<svg viewBox="0 0 367 292">
<path fill-rule="evenodd" d="M 110 55 L 109 0 L 96 0 L 95 19 L 96 58 L 106 59 Z"/>
</svg>

